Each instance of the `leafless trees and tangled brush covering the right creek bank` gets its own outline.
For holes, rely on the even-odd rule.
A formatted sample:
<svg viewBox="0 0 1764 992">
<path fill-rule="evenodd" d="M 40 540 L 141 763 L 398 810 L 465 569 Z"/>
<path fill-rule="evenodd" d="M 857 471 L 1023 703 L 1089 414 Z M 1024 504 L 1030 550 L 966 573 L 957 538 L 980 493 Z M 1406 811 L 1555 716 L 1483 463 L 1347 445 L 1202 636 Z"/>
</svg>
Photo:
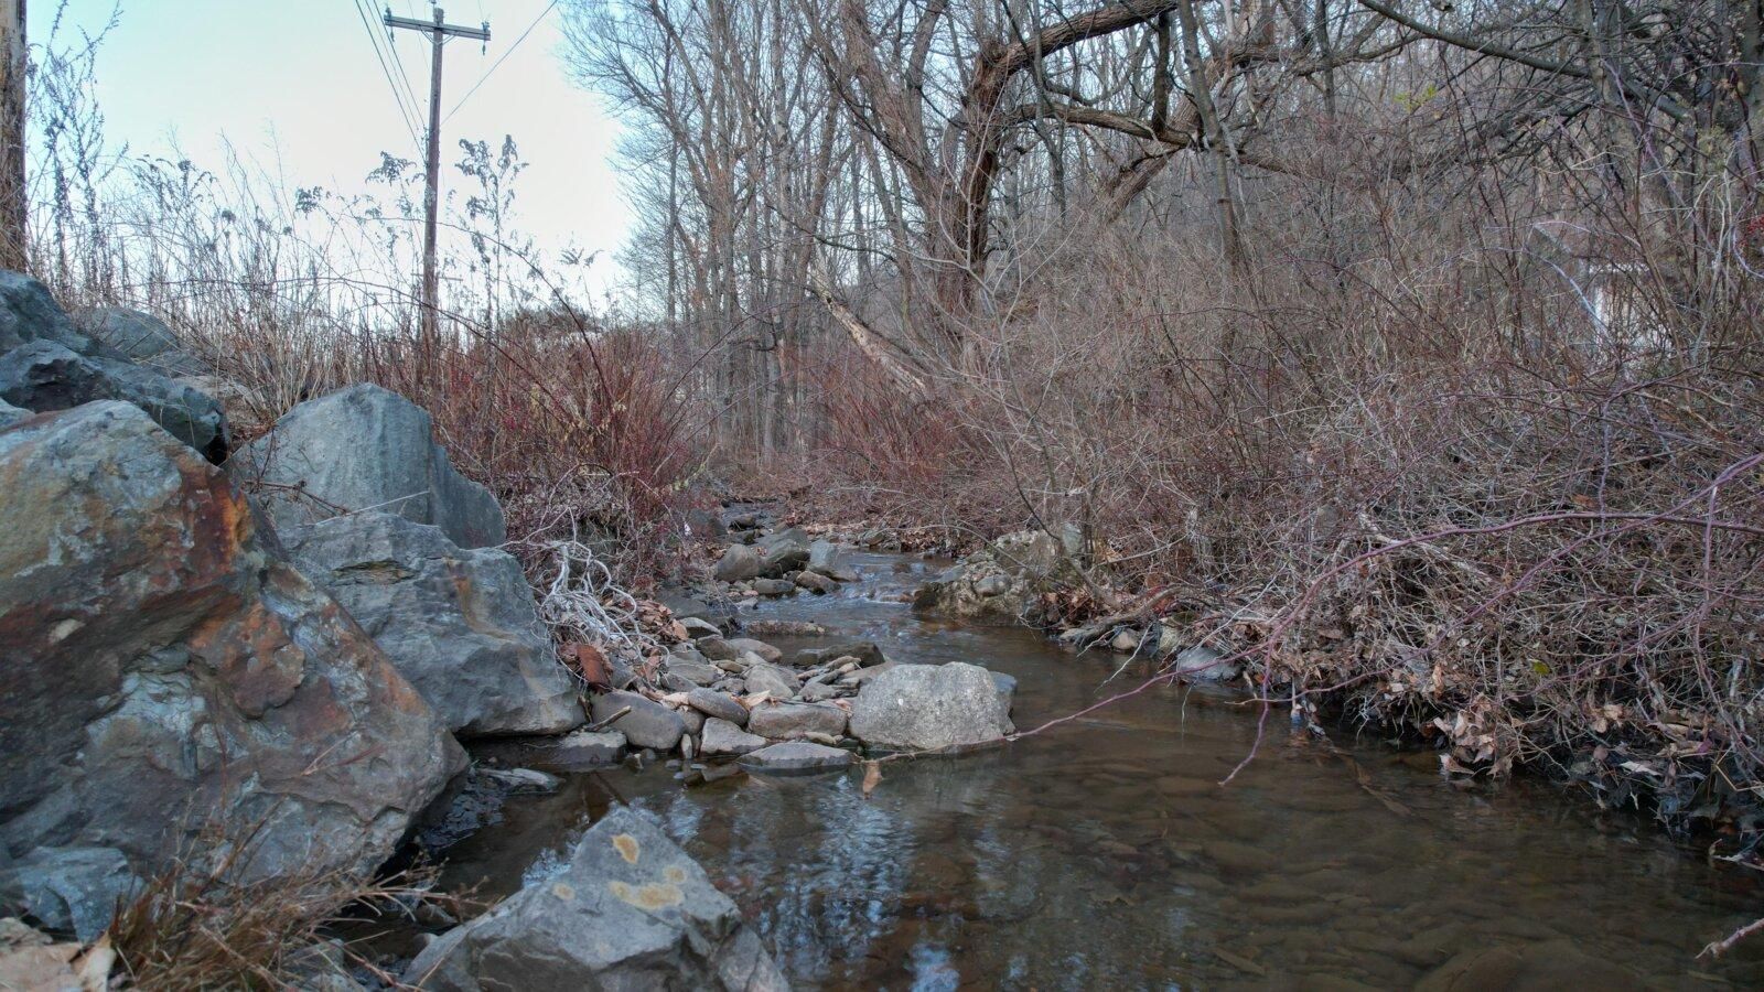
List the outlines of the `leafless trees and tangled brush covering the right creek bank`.
<svg viewBox="0 0 1764 992">
<path fill-rule="evenodd" d="M 564 7 L 720 450 L 1462 768 L 1757 782 L 1757 2 Z"/>
</svg>

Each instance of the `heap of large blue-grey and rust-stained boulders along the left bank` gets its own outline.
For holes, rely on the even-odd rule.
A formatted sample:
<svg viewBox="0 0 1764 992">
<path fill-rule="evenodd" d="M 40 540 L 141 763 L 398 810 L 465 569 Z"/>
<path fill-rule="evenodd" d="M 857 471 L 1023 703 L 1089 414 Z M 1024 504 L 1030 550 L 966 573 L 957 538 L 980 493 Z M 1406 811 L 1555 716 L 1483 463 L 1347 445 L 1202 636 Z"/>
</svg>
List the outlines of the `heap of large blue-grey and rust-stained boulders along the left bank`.
<svg viewBox="0 0 1764 992">
<path fill-rule="evenodd" d="M 556 787 L 529 770 L 464 777 L 453 734 L 586 718 L 520 565 L 492 547 L 501 508 L 425 411 L 351 387 L 291 410 L 222 471 L 226 417 L 178 378 L 208 369 L 146 314 L 86 325 L 0 272 L 7 985 L 53 985 L 79 950 L 9 916 L 92 941 L 173 858 L 201 870 L 247 838 L 242 881 L 365 876 L 418 830 L 483 823 L 487 796 Z M 695 688 L 729 678 L 686 653 L 677 667 Z M 732 695 L 697 703 L 746 720 Z M 621 729 L 557 752 L 593 764 L 732 727 L 642 695 L 596 715 L 609 704 L 630 708 Z M 734 904 L 647 821 L 609 817 L 568 877 L 448 934 L 430 987 L 508 987 L 499 948 L 531 948 L 506 973 L 522 987 L 783 988 Z"/>
</svg>

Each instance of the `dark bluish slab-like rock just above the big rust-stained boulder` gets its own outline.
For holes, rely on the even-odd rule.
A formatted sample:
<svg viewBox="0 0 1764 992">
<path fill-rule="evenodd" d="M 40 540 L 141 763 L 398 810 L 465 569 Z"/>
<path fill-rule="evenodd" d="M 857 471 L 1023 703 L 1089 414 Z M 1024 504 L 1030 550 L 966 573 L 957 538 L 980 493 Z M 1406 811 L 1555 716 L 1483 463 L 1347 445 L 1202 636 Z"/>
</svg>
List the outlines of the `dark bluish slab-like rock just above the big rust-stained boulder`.
<svg viewBox="0 0 1764 992">
<path fill-rule="evenodd" d="M 32 341 L 0 355 L 0 399 L 35 413 L 120 399 L 145 410 L 205 459 L 220 464 L 228 457 L 226 415 L 213 397 L 132 362 L 81 355 L 55 341 Z"/>
</svg>

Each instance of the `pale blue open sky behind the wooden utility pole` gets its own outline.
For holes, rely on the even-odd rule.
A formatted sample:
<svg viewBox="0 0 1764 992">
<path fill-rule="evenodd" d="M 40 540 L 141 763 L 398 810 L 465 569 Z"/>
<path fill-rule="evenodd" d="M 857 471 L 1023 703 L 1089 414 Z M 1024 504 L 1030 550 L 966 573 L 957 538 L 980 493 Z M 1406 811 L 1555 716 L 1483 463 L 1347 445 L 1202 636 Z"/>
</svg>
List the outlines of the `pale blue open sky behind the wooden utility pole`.
<svg viewBox="0 0 1764 992">
<path fill-rule="evenodd" d="M 388 0 L 367 0 L 377 26 Z M 101 25 L 116 0 L 71 0 L 67 16 Z M 429 18 L 416 0 L 393 14 Z M 602 251 L 589 284 L 605 286 L 628 226 L 609 155 L 617 125 L 600 101 L 564 76 L 561 11 L 549 0 L 452 0 L 448 23 L 490 21 L 489 51 L 475 41 L 446 48 L 443 113 L 515 48 L 441 127 L 443 180 L 453 180 L 457 138 L 501 145 L 513 134 L 529 162 L 519 180 L 517 226 L 542 249 Z M 49 34 L 56 0 L 32 0 L 30 35 Z M 355 0 L 122 0 L 120 25 L 99 53 L 99 101 L 113 141 L 164 154 L 171 138 L 198 164 L 219 162 L 219 139 L 273 161 L 296 185 L 363 189 L 362 177 L 390 150 L 422 159 L 393 102 Z M 542 12 L 543 18 L 542 18 Z M 429 113 L 429 41 L 393 32 L 416 97 Z M 453 175 L 450 175 L 453 173 Z M 446 233 L 443 231 L 443 237 Z"/>
</svg>

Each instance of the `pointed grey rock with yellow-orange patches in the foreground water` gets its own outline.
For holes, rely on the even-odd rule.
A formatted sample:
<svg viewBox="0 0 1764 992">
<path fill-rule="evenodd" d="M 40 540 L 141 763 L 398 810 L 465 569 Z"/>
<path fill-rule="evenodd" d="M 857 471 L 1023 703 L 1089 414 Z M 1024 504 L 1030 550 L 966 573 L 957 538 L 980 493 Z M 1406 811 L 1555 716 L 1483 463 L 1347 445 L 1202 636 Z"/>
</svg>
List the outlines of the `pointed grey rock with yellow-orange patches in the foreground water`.
<svg viewBox="0 0 1764 992">
<path fill-rule="evenodd" d="M 704 868 L 626 807 L 582 835 L 563 872 L 437 937 L 404 981 L 429 992 L 789 987 Z"/>
</svg>

